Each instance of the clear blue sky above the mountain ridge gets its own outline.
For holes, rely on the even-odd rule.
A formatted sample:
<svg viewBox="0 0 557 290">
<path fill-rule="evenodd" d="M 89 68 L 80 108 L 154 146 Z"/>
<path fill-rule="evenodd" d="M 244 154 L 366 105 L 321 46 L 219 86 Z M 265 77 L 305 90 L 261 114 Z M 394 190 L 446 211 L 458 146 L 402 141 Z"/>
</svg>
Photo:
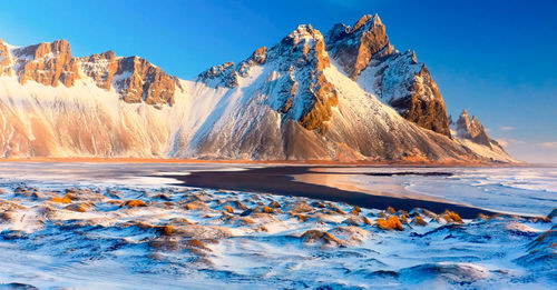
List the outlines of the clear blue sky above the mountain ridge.
<svg viewBox="0 0 557 290">
<path fill-rule="evenodd" d="M 527 161 L 557 162 L 557 1 L 20 1 L 0 6 L 0 38 L 67 39 L 75 56 L 114 50 L 193 79 L 273 46 L 300 23 L 325 33 L 379 13 L 391 43 L 429 67 L 449 113 L 477 114 Z"/>
</svg>

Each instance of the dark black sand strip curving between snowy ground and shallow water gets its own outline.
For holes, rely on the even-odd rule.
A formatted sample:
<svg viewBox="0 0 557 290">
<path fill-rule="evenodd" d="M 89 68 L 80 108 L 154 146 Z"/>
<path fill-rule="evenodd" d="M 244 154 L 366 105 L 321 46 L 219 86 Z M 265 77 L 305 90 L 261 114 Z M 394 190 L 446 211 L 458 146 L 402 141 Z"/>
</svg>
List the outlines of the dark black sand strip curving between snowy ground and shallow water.
<svg viewBox="0 0 557 290">
<path fill-rule="evenodd" d="M 188 176 L 172 176 L 172 178 L 183 181 L 184 184 L 188 187 L 306 197 L 312 199 L 346 202 L 349 204 L 371 209 L 387 209 L 387 207 L 393 207 L 395 210 L 410 211 L 414 208 L 423 208 L 437 213 L 441 213 L 444 210 L 451 210 L 459 213 L 465 219 L 473 219 L 478 217 L 479 213 L 496 213 L 485 209 L 449 202 L 372 196 L 358 191 L 346 191 L 325 186 L 295 181 L 294 178 L 291 177 L 292 174 L 309 173 L 312 168 L 313 167 L 286 166 L 248 169 L 245 171 L 202 171 L 190 172 Z M 320 172 L 312 171 L 311 173 Z M 330 172 L 321 173 L 328 174 Z M 410 172 L 404 173 L 408 174 Z"/>
</svg>

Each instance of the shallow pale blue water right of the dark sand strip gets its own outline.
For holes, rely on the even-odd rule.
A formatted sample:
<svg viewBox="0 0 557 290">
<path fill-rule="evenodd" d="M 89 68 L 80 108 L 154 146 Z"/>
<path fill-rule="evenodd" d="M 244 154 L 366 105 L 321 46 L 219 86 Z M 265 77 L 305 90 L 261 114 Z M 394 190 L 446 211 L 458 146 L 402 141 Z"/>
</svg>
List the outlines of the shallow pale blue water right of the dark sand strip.
<svg viewBox="0 0 557 290">
<path fill-rule="evenodd" d="M 329 169 L 338 171 L 339 169 Z M 344 172 L 448 172 L 451 176 L 350 176 L 353 186 L 384 190 L 400 186 L 411 193 L 489 210 L 546 216 L 557 208 L 557 168 L 348 168 Z"/>
</svg>

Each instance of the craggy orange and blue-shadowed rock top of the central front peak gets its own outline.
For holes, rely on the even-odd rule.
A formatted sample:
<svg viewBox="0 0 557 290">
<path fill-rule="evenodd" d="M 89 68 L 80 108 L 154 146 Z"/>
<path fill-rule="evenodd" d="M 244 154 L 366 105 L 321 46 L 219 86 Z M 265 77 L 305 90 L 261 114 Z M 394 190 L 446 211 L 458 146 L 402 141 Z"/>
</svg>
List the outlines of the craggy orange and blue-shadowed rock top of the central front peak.
<svg viewBox="0 0 557 290">
<path fill-rule="evenodd" d="M 275 64 L 272 82 L 278 88 L 273 109 L 283 120 L 295 120 L 307 130 L 324 133 L 338 98 L 323 74 L 330 67 L 324 38 L 312 26 L 299 26 L 268 52 L 265 47 L 260 48 L 238 66 L 226 62 L 213 67 L 201 73 L 198 80 L 215 88 L 236 88 L 241 77 L 250 76 L 251 68 L 267 61 Z"/>
</svg>

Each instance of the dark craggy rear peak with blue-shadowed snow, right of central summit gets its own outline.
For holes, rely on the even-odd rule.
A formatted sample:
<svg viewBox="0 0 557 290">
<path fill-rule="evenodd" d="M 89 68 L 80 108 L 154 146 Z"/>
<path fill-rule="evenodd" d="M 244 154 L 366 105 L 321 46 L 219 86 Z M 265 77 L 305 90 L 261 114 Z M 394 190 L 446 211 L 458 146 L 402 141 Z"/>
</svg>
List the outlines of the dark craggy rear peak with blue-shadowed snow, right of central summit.
<svg viewBox="0 0 557 290">
<path fill-rule="evenodd" d="M 450 136 L 444 100 L 416 53 L 401 53 L 390 44 L 375 14 L 353 28 L 335 24 L 326 37 L 328 50 L 344 72 L 367 91 L 377 93 L 407 120 Z"/>
</svg>

